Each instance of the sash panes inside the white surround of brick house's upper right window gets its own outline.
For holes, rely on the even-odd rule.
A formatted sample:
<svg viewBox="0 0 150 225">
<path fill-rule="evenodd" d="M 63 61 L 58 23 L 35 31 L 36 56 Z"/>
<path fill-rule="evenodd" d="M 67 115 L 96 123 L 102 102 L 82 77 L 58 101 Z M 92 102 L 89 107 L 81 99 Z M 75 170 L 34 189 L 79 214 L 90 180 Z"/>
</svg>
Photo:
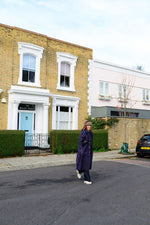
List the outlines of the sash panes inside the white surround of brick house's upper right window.
<svg viewBox="0 0 150 225">
<path fill-rule="evenodd" d="M 60 86 L 70 87 L 70 64 L 61 62 Z"/>
</svg>

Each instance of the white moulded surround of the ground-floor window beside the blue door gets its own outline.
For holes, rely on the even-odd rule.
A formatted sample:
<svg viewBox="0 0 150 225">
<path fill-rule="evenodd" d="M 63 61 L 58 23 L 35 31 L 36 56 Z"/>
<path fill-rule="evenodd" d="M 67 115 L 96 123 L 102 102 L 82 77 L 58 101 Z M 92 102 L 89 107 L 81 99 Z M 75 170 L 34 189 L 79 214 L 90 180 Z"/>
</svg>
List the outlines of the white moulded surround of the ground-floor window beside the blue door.
<svg viewBox="0 0 150 225">
<path fill-rule="evenodd" d="M 54 95 L 50 94 L 53 100 L 52 107 L 52 129 L 55 130 L 56 127 L 56 106 L 67 106 L 73 108 L 73 121 L 72 121 L 72 129 L 78 129 L 78 107 L 80 98 L 71 97 L 71 96 L 62 96 L 62 95 Z"/>
</svg>

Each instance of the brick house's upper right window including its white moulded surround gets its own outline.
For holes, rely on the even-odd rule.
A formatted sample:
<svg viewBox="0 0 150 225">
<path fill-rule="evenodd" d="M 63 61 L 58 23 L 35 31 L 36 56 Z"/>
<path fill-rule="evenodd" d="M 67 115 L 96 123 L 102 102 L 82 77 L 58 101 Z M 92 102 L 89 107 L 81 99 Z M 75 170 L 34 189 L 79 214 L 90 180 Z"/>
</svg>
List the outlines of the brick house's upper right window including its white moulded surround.
<svg viewBox="0 0 150 225">
<path fill-rule="evenodd" d="M 57 89 L 75 91 L 74 78 L 77 57 L 65 52 L 57 52 L 58 83 Z"/>
</svg>

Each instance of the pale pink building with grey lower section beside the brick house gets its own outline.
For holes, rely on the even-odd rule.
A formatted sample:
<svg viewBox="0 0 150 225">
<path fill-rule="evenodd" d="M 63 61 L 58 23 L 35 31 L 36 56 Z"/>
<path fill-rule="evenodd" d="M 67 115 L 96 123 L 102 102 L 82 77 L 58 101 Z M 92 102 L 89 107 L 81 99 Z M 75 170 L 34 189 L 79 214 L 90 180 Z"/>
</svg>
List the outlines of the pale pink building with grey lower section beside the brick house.
<svg viewBox="0 0 150 225">
<path fill-rule="evenodd" d="M 150 119 L 150 73 L 89 60 L 89 115 Z"/>
</svg>

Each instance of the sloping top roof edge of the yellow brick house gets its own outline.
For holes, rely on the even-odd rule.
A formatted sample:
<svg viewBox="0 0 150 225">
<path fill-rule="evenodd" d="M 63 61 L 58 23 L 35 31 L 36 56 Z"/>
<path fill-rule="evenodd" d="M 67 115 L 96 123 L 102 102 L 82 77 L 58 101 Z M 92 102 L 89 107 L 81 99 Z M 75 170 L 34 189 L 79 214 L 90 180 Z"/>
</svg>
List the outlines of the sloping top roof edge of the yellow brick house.
<svg viewBox="0 0 150 225">
<path fill-rule="evenodd" d="M 87 47 L 84 47 L 84 46 L 81 46 L 81 45 L 77 45 L 77 44 L 73 44 L 73 43 L 70 43 L 70 42 L 67 42 L 67 41 L 62 41 L 62 40 L 59 40 L 59 39 L 56 39 L 56 38 L 52 38 L 52 37 L 49 37 L 45 34 L 40 34 L 40 33 L 37 33 L 35 31 L 30 31 L 30 30 L 26 30 L 24 28 L 19 28 L 19 27 L 15 27 L 15 26 L 10 26 L 10 25 L 6 25 L 6 24 L 3 24 L 3 23 L 0 23 L 0 26 L 1 27 L 7 27 L 7 28 L 10 28 L 10 29 L 16 29 L 16 30 L 20 30 L 20 31 L 25 31 L 25 32 L 28 32 L 28 33 L 31 33 L 31 34 L 36 34 L 36 35 L 40 35 L 42 37 L 45 37 L 49 40 L 53 40 L 53 41 L 58 41 L 58 42 L 61 42 L 63 44 L 67 44 L 67 45 L 73 45 L 75 47 L 78 47 L 78 48 L 84 48 L 86 50 L 90 50 L 90 51 L 93 51 L 91 48 L 87 48 Z"/>
</svg>

